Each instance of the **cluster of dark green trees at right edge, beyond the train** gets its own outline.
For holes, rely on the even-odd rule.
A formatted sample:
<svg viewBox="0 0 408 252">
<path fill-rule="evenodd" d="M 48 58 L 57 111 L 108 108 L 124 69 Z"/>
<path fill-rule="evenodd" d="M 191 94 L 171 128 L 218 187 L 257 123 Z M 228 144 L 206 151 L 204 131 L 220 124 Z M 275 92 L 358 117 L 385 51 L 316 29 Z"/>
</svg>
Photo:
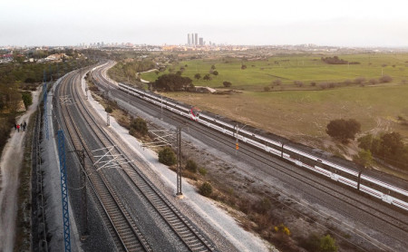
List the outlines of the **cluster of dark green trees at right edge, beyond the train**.
<svg viewBox="0 0 408 252">
<path fill-rule="evenodd" d="M 379 137 L 372 134 L 358 139 L 358 147 L 369 150 L 375 158 L 384 160 L 401 169 L 408 169 L 408 145 L 398 132 L 383 133 Z"/>
</svg>

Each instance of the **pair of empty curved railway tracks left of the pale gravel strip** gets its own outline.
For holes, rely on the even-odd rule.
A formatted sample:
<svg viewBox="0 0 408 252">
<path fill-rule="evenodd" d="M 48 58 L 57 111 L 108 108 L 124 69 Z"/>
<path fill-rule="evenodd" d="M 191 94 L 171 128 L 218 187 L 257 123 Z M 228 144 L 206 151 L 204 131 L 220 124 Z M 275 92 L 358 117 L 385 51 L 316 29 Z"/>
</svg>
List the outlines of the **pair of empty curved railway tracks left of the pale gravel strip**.
<svg viewBox="0 0 408 252">
<path fill-rule="evenodd" d="M 72 95 L 75 109 L 80 111 L 83 118 L 86 119 L 88 129 L 92 131 L 92 135 L 96 137 L 100 143 L 101 148 L 113 146 L 108 134 L 103 131 L 100 123 L 98 123 L 92 116 L 92 112 L 88 110 L 84 103 L 83 91 L 81 90 L 81 81 L 78 80 L 78 74 L 68 76 L 62 83 L 62 95 Z M 86 141 L 83 140 L 82 133 L 78 125 L 75 124 L 75 117 L 69 105 L 62 105 L 62 115 L 73 144 L 76 150 L 85 150 L 87 157 L 95 163 L 95 158 L 92 156 L 92 151 L 88 147 Z M 125 154 L 120 148 L 115 147 L 112 152 L 113 155 Z M 129 160 L 129 159 L 128 159 Z M 121 166 L 121 170 L 132 183 L 132 188 L 138 190 L 144 199 L 146 199 L 151 206 L 157 211 L 166 225 L 174 232 L 174 235 L 179 237 L 185 247 L 190 251 L 214 251 L 215 248 L 209 240 L 200 234 L 199 229 L 195 228 L 190 221 L 185 218 L 177 208 L 171 205 L 170 201 L 166 199 L 158 189 L 156 189 L 151 182 L 141 173 L 133 164 L 126 164 Z M 92 187 L 97 191 L 99 199 L 104 206 L 104 210 L 111 219 L 112 226 L 116 236 L 121 240 L 121 247 L 129 251 L 141 251 L 143 248 L 146 251 L 151 251 L 151 248 L 146 242 L 141 232 L 132 223 L 130 213 L 121 204 L 121 199 L 115 193 L 112 186 L 110 186 L 108 179 L 104 178 L 103 172 L 95 170 L 87 170 Z"/>
</svg>

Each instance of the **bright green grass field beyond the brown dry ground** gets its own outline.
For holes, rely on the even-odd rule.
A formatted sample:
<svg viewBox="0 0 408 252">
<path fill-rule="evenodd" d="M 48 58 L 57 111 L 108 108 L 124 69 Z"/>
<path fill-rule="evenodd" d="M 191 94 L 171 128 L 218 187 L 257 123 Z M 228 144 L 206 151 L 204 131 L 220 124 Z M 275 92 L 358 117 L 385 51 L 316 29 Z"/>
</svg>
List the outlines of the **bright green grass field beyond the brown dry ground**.
<svg viewBox="0 0 408 252">
<path fill-rule="evenodd" d="M 261 91 L 265 86 L 270 86 L 277 79 L 283 82 L 283 88 L 293 85 L 294 81 L 304 82 L 303 89 L 310 89 L 310 82 L 345 82 L 354 81 L 356 77 L 363 76 L 369 79 L 378 79 L 382 74 L 393 77 L 393 82 L 408 80 L 408 54 L 350 54 L 339 55 L 339 58 L 360 64 L 327 64 L 321 61 L 322 56 L 333 55 L 287 55 L 271 57 L 267 61 L 243 61 L 227 58 L 219 60 L 192 60 L 183 61 L 172 65 L 174 73 L 181 67 L 188 65 L 182 76 L 193 80 L 194 85 L 222 87 L 222 82 L 232 82 L 232 88 Z M 211 65 L 215 65 L 218 76 L 212 75 L 211 81 L 194 79 L 194 74 L 200 73 L 203 77 L 209 73 Z M 247 69 L 241 70 L 241 64 Z M 164 73 L 169 73 L 169 68 Z M 164 74 L 164 73 L 159 73 Z M 142 79 L 154 81 L 158 75 L 154 72 L 143 73 Z M 274 90 L 281 90 L 275 87 Z"/>
</svg>

